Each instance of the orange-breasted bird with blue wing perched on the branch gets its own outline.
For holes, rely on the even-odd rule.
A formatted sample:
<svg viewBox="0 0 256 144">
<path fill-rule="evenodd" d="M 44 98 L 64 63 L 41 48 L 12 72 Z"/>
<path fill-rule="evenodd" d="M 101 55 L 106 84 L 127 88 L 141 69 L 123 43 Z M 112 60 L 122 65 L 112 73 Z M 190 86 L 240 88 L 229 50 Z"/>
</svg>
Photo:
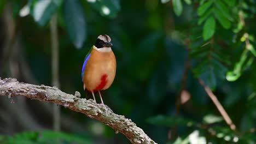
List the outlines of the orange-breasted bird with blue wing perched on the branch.
<svg viewBox="0 0 256 144">
<path fill-rule="evenodd" d="M 99 35 L 95 44 L 85 56 L 82 68 L 82 82 L 84 90 L 87 89 L 95 99 L 95 93 L 100 95 L 101 104 L 104 105 L 101 91 L 108 89 L 114 79 L 117 62 L 111 47 L 113 44 L 107 34 Z M 107 108 L 104 105 L 107 112 Z"/>
</svg>

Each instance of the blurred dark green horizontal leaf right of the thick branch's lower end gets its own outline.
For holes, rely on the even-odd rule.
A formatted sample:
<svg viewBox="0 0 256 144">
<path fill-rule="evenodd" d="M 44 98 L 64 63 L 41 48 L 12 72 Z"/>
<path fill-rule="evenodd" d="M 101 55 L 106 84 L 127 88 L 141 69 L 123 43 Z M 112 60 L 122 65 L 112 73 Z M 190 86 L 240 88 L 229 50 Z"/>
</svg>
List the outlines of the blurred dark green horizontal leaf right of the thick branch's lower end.
<svg viewBox="0 0 256 144">
<path fill-rule="evenodd" d="M 177 125 L 185 125 L 188 127 L 191 127 L 195 124 L 195 122 L 185 119 L 182 117 L 167 117 L 167 116 L 155 116 L 147 119 L 148 123 L 154 124 L 154 125 L 161 125 L 166 127 L 173 127 Z"/>
</svg>

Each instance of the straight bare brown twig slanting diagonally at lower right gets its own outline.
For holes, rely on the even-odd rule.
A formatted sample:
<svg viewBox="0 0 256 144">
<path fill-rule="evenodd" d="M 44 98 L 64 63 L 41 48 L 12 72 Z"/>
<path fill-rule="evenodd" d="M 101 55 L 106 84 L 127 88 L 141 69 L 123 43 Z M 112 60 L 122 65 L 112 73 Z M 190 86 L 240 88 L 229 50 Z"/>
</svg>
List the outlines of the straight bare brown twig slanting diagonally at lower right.
<svg viewBox="0 0 256 144">
<path fill-rule="evenodd" d="M 232 122 L 231 118 L 229 117 L 228 113 L 226 113 L 225 109 L 223 108 L 222 104 L 219 103 L 216 95 L 213 94 L 211 89 L 203 82 L 203 80 L 199 79 L 199 83 L 203 86 L 206 93 L 212 99 L 214 105 L 216 105 L 217 109 L 219 110 L 220 114 L 224 118 L 225 122 L 230 126 L 230 129 L 236 130 L 236 125 Z"/>
</svg>

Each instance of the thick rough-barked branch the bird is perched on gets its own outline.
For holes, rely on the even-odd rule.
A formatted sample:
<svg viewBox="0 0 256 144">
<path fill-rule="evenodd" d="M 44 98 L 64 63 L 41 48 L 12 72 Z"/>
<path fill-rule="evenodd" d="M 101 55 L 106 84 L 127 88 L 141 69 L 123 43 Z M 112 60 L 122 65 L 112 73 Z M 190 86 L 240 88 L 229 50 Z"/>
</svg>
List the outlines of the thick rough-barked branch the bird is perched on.
<svg viewBox="0 0 256 144">
<path fill-rule="evenodd" d="M 103 105 L 94 103 L 92 99 L 86 100 L 80 98 L 79 92 L 75 92 L 75 94 L 72 95 L 62 92 L 56 87 L 37 86 L 19 82 L 16 79 L 9 78 L 2 80 L 0 78 L 0 96 L 6 95 L 9 97 L 23 96 L 30 99 L 59 104 L 101 121 L 115 131 L 124 134 L 131 143 L 155 143 L 141 128 L 137 127 L 131 119 L 115 114 L 109 107 L 107 107 L 108 112 L 105 113 Z"/>
</svg>

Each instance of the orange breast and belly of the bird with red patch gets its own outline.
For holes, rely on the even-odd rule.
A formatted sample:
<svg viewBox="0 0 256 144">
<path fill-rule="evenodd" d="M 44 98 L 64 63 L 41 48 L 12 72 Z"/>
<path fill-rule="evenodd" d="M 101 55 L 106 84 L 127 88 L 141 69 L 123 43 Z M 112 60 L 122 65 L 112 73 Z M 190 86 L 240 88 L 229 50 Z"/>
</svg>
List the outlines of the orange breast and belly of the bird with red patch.
<svg viewBox="0 0 256 144">
<path fill-rule="evenodd" d="M 113 51 L 99 52 L 92 49 L 86 63 L 83 82 L 88 91 L 100 91 L 109 88 L 115 77 L 117 63 Z"/>
</svg>

